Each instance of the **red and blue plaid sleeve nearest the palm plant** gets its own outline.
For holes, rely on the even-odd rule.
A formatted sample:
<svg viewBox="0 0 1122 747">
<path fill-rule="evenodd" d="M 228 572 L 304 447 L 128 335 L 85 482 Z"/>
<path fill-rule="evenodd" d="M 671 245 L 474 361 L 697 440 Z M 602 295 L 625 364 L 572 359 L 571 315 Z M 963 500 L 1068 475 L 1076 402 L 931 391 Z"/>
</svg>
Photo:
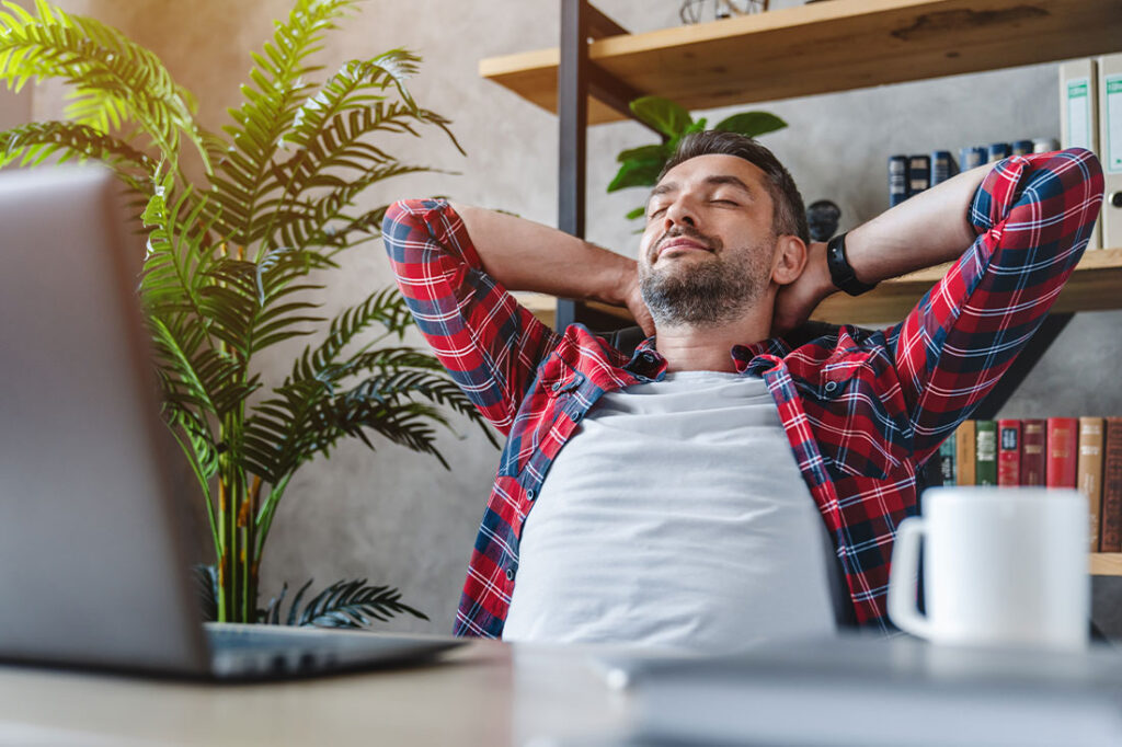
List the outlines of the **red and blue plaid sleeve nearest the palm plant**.
<svg viewBox="0 0 1122 747">
<path fill-rule="evenodd" d="M 482 269 L 447 201 L 394 203 L 381 233 L 417 329 L 484 417 L 507 434 L 557 335 Z"/>
</svg>

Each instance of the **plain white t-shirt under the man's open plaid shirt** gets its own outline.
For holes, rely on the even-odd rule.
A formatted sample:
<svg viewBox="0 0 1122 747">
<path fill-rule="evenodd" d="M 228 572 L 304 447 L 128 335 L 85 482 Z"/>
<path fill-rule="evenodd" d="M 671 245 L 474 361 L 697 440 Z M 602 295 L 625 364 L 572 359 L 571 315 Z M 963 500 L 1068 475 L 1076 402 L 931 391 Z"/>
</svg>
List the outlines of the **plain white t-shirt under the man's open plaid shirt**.
<svg viewBox="0 0 1122 747">
<path fill-rule="evenodd" d="M 837 562 L 763 379 L 670 374 L 604 395 L 558 454 L 503 638 L 726 652 L 830 634 Z"/>
</svg>

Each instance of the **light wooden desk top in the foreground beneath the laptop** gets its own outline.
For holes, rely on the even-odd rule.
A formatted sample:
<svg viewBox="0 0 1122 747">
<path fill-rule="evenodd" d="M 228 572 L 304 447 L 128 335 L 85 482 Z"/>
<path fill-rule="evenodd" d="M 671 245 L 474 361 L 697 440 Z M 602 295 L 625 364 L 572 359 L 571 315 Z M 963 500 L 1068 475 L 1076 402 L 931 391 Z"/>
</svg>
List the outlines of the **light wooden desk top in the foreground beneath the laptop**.
<svg viewBox="0 0 1122 747">
<path fill-rule="evenodd" d="M 0 666 L 0 745 L 525 745 L 619 730 L 627 697 L 571 648 L 473 640 L 436 665 L 267 684 Z"/>
</svg>

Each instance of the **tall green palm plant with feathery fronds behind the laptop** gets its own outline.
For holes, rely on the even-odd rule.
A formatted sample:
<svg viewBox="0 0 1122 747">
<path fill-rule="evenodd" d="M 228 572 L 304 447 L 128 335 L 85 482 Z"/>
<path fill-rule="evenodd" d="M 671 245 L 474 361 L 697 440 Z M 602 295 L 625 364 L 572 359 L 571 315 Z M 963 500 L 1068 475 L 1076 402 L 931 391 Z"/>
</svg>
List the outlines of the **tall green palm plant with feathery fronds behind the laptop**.
<svg viewBox="0 0 1122 747">
<path fill-rule="evenodd" d="M 435 426 L 475 407 L 431 356 L 404 344 L 412 323 L 396 289 L 328 320 L 315 301 L 340 252 L 380 238 L 385 206 L 356 211 L 368 187 L 407 173 L 374 137 L 449 120 L 422 109 L 405 81 L 420 58 L 393 49 L 351 59 L 320 83 L 309 56 L 355 0 L 297 0 L 254 55 L 243 100 L 222 132 L 195 119 L 195 100 L 148 49 L 92 18 L 37 0 L 35 15 L 0 11 L 0 79 L 62 79 L 65 121 L 0 132 L 0 166 L 96 159 L 135 197 L 148 249 L 139 295 L 156 352 L 163 414 L 197 480 L 214 565 L 213 619 L 278 622 L 258 609 L 258 579 L 277 506 L 295 472 L 343 439 L 370 433 L 444 463 Z M 192 164 L 202 177 L 192 181 Z M 324 329 L 325 328 L 325 329 Z M 259 353 L 314 332 L 282 381 Z M 376 332 L 376 334 L 375 334 Z M 323 334 L 325 333 L 325 334 Z M 318 594 L 289 622 L 366 625 L 407 612 L 396 589 L 365 580 Z M 422 616 L 423 617 L 423 616 Z"/>
</svg>

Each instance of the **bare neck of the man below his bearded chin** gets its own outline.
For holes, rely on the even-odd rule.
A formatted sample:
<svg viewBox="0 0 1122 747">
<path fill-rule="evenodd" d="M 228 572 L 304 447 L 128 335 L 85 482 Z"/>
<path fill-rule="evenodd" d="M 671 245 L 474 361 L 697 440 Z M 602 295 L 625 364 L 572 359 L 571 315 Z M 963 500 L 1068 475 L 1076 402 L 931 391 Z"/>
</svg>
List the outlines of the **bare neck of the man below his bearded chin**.
<svg viewBox="0 0 1122 747">
<path fill-rule="evenodd" d="M 736 367 L 729 354 L 733 347 L 761 342 L 770 336 L 771 306 L 764 307 L 766 313 L 753 310 L 725 324 L 660 324 L 656 329 L 655 349 L 666 359 L 666 370 L 670 372 L 734 372 Z"/>
</svg>

